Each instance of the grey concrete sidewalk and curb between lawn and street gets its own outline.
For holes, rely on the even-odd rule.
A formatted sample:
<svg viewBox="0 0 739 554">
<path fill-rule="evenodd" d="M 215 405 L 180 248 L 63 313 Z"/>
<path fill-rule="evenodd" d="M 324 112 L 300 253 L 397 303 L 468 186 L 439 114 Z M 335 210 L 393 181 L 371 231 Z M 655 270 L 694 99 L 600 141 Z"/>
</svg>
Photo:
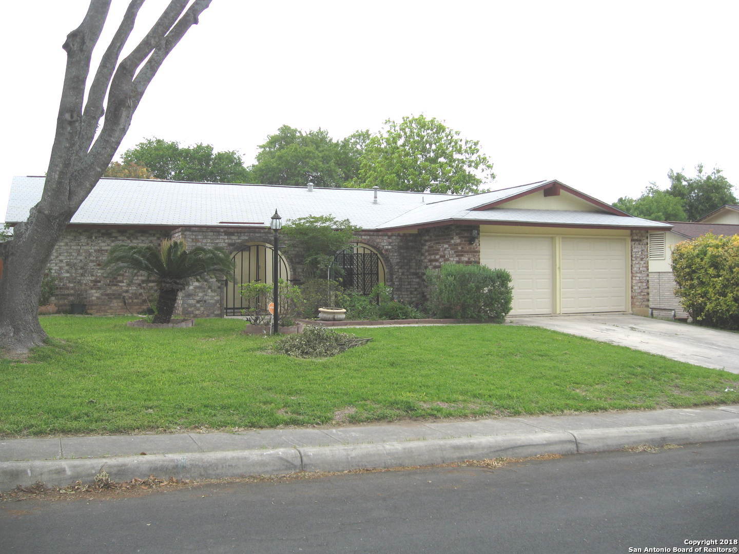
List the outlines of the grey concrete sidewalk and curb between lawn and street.
<svg viewBox="0 0 739 554">
<path fill-rule="evenodd" d="M 739 439 L 739 406 L 337 428 L 0 440 L 0 490 L 134 477 L 208 479 L 578 454 Z"/>
</svg>

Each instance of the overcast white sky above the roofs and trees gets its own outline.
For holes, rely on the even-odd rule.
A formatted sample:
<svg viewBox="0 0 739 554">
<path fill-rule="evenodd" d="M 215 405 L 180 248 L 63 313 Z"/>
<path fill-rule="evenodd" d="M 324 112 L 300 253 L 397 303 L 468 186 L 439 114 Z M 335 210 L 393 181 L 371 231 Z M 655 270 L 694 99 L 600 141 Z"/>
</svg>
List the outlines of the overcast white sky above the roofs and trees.
<svg viewBox="0 0 739 554">
<path fill-rule="evenodd" d="M 113 0 L 109 34 L 127 3 Z M 61 44 L 87 4 L 4 6 L 0 221 L 13 175 L 47 169 Z M 146 2 L 139 34 L 164 4 Z M 738 20 L 728 0 L 214 0 L 119 153 L 160 137 L 248 165 L 282 124 L 341 138 L 423 113 L 480 140 L 491 188 L 559 179 L 614 202 L 699 162 L 739 185 Z"/>
</svg>

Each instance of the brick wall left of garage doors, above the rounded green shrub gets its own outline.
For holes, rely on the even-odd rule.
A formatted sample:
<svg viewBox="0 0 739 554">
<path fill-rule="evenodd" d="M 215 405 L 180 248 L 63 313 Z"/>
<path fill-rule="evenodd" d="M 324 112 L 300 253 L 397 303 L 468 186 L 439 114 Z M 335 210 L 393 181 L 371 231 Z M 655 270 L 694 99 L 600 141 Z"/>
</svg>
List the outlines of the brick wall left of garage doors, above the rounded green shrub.
<svg viewBox="0 0 739 554">
<path fill-rule="evenodd" d="M 477 230 L 477 238 L 472 232 Z M 444 225 L 418 231 L 424 267 L 438 269 L 441 264 L 480 264 L 480 227 Z"/>
</svg>

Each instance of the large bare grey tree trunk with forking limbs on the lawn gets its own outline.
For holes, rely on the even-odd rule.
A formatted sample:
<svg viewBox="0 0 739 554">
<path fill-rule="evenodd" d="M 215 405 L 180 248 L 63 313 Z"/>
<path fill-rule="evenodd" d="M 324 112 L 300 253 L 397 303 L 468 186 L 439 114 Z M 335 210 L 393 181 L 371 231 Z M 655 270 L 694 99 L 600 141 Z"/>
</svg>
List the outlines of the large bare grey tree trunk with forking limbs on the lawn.
<svg viewBox="0 0 739 554">
<path fill-rule="evenodd" d="M 46 334 L 38 324 L 38 297 L 54 246 L 103 176 L 151 79 L 211 3 L 195 0 L 188 7 L 189 0 L 170 0 L 149 33 L 119 61 L 144 1 L 130 0 L 88 88 L 92 49 L 100 38 L 110 1 L 90 0 L 84 20 L 67 35 L 63 45 L 67 69 L 44 193 L 27 222 L 16 225 L 13 239 L 0 243 L 4 265 L 0 349 L 9 355 L 23 355 L 44 343 Z M 107 110 L 103 109 L 106 98 Z"/>
</svg>

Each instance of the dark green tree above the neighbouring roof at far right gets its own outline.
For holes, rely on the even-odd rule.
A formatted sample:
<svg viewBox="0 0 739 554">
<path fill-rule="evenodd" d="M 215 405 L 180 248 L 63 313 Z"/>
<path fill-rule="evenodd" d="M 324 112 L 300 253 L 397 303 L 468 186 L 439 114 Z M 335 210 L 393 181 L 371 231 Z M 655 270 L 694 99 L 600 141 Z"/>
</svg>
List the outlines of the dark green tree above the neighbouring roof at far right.
<svg viewBox="0 0 739 554">
<path fill-rule="evenodd" d="M 695 177 L 687 177 L 683 171 L 675 173 L 670 169 L 669 192 L 683 201 L 688 221 L 695 221 L 724 204 L 736 204 L 737 198 L 732 184 L 721 174 L 721 169 L 713 168 L 710 174 L 704 173 L 703 164 L 695 166 Z"/>
</svg>

